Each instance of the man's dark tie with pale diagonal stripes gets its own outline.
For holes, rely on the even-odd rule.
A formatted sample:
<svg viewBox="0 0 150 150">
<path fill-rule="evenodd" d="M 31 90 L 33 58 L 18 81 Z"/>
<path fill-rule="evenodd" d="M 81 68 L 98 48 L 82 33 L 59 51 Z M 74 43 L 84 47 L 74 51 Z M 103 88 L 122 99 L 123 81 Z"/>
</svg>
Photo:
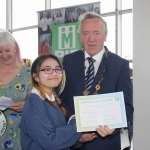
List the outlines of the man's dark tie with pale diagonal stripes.
<svg viewBox="0 0 150 150">
<path fill-rule="evenodd" d="M 89 67 L 85 75 L 85 90 L 89 91 L 92 86 L 92 82 L 94 80 L 94 59 L 92 57 L 88 57 Z"/>
</svg>

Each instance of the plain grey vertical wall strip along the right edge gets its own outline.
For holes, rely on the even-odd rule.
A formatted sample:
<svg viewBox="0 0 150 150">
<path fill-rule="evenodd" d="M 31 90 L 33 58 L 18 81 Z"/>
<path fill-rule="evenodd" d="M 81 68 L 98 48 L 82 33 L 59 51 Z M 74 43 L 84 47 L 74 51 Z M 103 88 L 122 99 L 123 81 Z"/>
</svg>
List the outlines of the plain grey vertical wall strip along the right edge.
<svg viewBox="0 0 150 150">
<path fill-rule="evenodd" d="M 150 150 L 150 0 L 133 0 L 134 150 Z"/>
</svg>

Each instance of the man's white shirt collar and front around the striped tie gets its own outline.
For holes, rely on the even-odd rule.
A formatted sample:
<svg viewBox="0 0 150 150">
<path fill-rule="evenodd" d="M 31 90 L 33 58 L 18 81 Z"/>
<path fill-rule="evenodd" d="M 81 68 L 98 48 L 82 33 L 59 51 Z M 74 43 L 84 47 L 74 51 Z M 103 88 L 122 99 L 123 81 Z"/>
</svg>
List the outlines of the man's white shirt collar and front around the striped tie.
<svg viewBox="0 0 150 150">
<path fill-rule="evenodd" d="M 94 62 L 94 76 L 97 73 L 97 70 L 98 70 L 99 65 L 100 65 L 100 63 L 102 61 L 102 57 L 103 57 L 104 52 L 105 52 L 105 49 L 103 47 L 103 49 L 98 54 L 96 54 L 96 55 L 94 55 L 92 57 L 93 59 L 95 59 L 95 62 Z M 89 67 L 89 62 L 88 62 L 88 59 L 87 59 L 88 57 L 91 57 L 91 56 L 85 50 L 85 62 L 84 62 L 84 65 L 86 67 L 86 69 L 85 69 L 85 75 L 86 75 L 87 69 Z"/>
</svg>

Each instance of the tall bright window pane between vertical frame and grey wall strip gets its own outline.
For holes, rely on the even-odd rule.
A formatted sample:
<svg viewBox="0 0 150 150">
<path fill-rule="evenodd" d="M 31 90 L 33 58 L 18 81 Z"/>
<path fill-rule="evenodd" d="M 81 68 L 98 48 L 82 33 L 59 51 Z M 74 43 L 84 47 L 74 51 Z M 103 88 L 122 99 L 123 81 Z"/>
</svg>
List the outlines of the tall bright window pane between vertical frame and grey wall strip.
<svg viewBox="0 0 150 150">
<path fill-rule="evenodd" d="M 132 13 L 122 15 L 122 57 L 133 59 L 133 17 Z"/>
</svg>

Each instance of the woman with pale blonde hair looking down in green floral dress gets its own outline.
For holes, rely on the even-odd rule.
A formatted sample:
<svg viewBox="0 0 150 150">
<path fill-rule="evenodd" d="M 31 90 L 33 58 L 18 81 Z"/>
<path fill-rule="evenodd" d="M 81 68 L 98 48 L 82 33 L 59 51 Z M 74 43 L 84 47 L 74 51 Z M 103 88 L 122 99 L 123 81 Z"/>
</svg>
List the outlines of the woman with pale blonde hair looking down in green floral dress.
<svg viewBox="0 0 150 150">
<path fill-rule="evenodd" d="M 0 149 L 22 149 L 20 118 L 30 90 L 30 69 L 23 64 L 18 43 L 9 32 L 0 32 L 0 97 L 10 98 L 14 102 L 0 111 Z"/>
</svg>

